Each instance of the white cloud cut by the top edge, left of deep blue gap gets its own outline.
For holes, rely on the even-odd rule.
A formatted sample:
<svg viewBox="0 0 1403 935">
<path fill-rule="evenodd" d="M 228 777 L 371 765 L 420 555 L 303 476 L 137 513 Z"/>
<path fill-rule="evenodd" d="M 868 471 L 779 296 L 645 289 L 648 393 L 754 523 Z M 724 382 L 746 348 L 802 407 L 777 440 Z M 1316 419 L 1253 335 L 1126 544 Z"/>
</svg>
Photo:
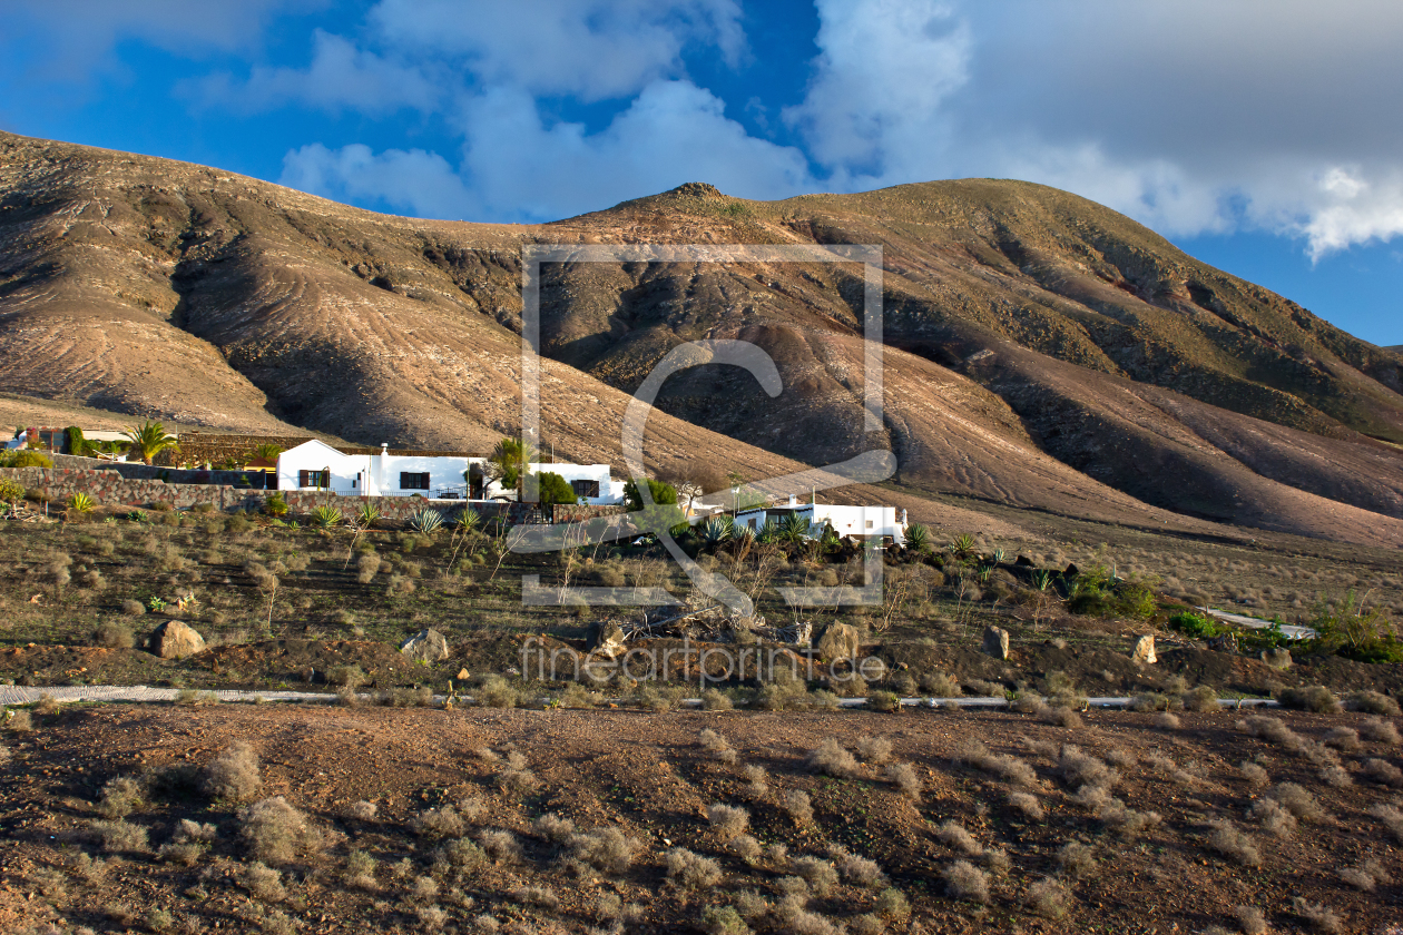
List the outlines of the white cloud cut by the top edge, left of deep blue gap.
<svg viewBox="0 0 1403 935">
<path fill-rule="evenodd" d="M 584 101 L 636 94 L 685 74 L 687 42 L 745 55 L 737 0 L 382 0 L 379 39 L 459 62 L 487 87 Z"/>
</svg>

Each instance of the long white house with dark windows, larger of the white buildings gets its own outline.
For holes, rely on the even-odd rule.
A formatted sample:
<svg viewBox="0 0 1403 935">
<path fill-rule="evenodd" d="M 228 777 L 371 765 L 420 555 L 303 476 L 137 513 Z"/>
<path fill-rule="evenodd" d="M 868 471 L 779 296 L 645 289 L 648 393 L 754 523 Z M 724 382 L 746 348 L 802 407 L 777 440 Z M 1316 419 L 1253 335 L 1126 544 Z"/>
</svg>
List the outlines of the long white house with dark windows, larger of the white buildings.
<svg viewBox="0 0 1403 935">
<path fill-rule="evenodd" d="M 412 496 L 432 500 L 516 499 L 487 478 L 487 458 L 457 451 L 334 449 L 316 439 L 278 456 L 278 489 L 328 491 L 344 496 Z M 589 505 L 623 502 L 623 484 L 610 479 L 607 464 L 532 464 L 532 472 L 565 478 Z M 464 475 L 467 478 L 464 479 Z"/>
</svg>

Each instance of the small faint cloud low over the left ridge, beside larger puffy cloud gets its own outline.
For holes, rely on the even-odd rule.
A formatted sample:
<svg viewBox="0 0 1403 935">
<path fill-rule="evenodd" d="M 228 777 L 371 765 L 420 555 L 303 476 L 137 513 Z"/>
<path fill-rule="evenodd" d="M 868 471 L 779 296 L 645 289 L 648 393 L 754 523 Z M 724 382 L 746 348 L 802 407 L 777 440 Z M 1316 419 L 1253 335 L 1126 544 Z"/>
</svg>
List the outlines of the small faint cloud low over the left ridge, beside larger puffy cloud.
<svg viewBox="0 0 1403 935">
<path fill-rule="evenodd" d="M 386 150 L 352 143 L 331 150 L 321 143 L 283 157 L 282 185 L 349 202 L 380 200 L 417 217 L 469 219 L 473 195 L 438 153 Z"/>
</svg>

